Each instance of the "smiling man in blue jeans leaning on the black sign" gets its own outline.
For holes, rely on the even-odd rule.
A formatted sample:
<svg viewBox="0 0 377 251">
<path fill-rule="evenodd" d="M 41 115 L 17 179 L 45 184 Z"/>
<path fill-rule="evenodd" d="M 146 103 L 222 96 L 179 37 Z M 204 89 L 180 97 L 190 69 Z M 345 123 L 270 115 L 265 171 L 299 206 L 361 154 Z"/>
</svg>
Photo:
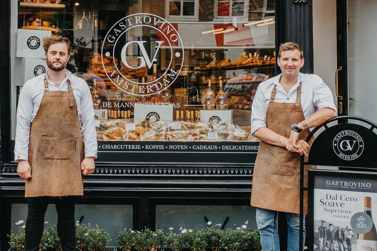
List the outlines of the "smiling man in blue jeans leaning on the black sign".
<svg viewBox="0 0 377 251">
<path fill-rule="evenodd" d="M 282 74 L 259 84 L 251 107 L 251 133 L 261 140 L 253 172 L 251 205 L 256 207 L 262 249 L 279 251 L 276 216 L 281 211 L 287 218 L 288 251 L 297 251 L 300 156 L 308 155 L 305 139 L 309 128 L 337 116 L 337 112 L 333 94 L 322 79 L 300 73 L 304 58 L 298 44 L 281 44 L 277 64 Z M 305 201 L 306 196 L 304 207 Z M 305 225 L 303 229 L 305 238 Z"/>
</svg>

